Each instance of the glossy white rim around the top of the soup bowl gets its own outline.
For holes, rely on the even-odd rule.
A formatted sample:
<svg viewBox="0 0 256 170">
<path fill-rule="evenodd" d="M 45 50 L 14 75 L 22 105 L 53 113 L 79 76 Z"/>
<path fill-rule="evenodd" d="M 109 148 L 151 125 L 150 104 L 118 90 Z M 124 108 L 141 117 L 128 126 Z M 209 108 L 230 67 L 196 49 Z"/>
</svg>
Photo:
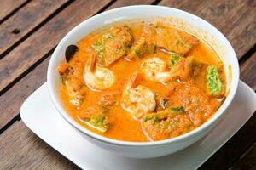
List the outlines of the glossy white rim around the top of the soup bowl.
<svg viewBox="0 0 256 170">
<path fill-rule="evenodd" d="M 215 111 L 215 113 L 212 115 L 212 117 L 209 118 L 209 120 L 207 120 L 207 122 L 204 122 L 200 127 L 196 127 L 194 130 L 190 131 L 189 133 L 184 133 L 184 134 L 177 136 L 175 138 L 172 138 L 172 139 L 164 139 L 164 140 L 154 141 L 154 142 L 150 142 L 150 141 L 148 141 L 148 142 L 131 142 L 131 141 L 123 141 L 123 140 L 119 140 L 119 139 L 110 139 L 108 137 L 104 137 L 100 134 L 90 131 L 89 129 L 86 129 L 85 127 L 82 127 L 81 125 L 79 125 L 78 122 L 73 120 L 73 118 L 71 116 L 69 116 L 67 111 L 63 108 L 63 106 L 58 104 L 58 102 L 57 102 L 58 97 L 54 95 L 54 88 L 53 88 L 53 84 L 52 84 L 52 81 L 54 80 L 54 78 L 51 73 L 52 73 L 52 71 L 55 71 L 55 68 L 53 68 L 54 67 L 53 63 L 55 63 L 55 59 L 57 58 L 57 51 L 60 50 L 61 44 L 63 42 L 66 42 L 71 37 L 71 35 L 74 32 L 76 32 L 76 30 L 78 30 L 78 28 L 80 26 L 86 25 L 91 20 L 98 20 L 99 18 L 102 17 L 102 15 L 112 14 L 115 12 L 122 11 L 124 9 L 132 9 L 132 10 L 137 9 L 138 10 L 140 8 L 148 8 L 148 10 L 152 9 L 152 8 L 154 8 L 154 10 L 155 9 L 158 9 L 158 10 L 164 9 L 164 10 L 169 10 L 171 12 L 175 11 L 177 13 L 190 15 L 190 17 L 194 18 L 195 20 L 200 20 L 205 25 L 212 27 L 212 29 L 218 33 L 218 37 L 221 37 L 222 41 L 224 41 L 224 44 L 226 44 L 228 46 L 227 48 L 230 49 L 231 56 L 236 58 L 235 59 L 236 62 L 234 63 L 234 65 L 232 65 L 232 74 L 235 73 L 234 75 L 236 77 L 231 78 L 232 83 L 230 84 L 230 92 L 227 95 L 227 98 L 225 99 L 224 103 L 218 108 L 218 111 Z M 138 17 L 138 19 L 139 19 L 139 17 Z M 64 117 L 64 119 L 69 124 L 71 124 L 73 127 L 78 129 L 79 132 L 85 134 L 86 136 L 88 136 L 92 139 L 96 139 L 98 141 L 101 141 L 101 142 L 107 143 L 107 144 L 140 147 L 140 146 L 156 146 L 156 145 L 160 145 L 160 144 L 177 143 L 177 142 L 182 141 L 183 139 L 188 139 L 189 137 L 195 138 L 196 136 L 201 135 L 201 131 L 203 131 L 204 129 L 207 129 L 207 127 L 210 127 L 214 122 L 218 122 L 218 120 L 221 118 L 221 116 L 224 115 L 224 112 L 226 111 L 226 109 L 230 106 L 230 103 L 234 99 L 234 96 L 236 94 L 236 90 L 237 90 L 238 82 L 239 82 L 239 75 L 240 75 L 239 74 L 239 65 L 238 65 L 238 60 L 237 60 L 234 48 L 232 48 L 232 46 L 230 45 L 230 42 L 227 40 L 227 38 L 224 37 L 224 35 L 220 31 L 218 31 L 218 29 L 215 26 L 212 26 L 206 20 L 201 19 L 200 17 L 196 16 L 195 14 L 190 14 L 186 11 L 183 11 L 183 10 L 180 10 L 177 8 L 154 6 L 154 5 L 133 5 L 133 6 L 126 6 L 126 7 L 121 7 L 121 8 L 113 8 L 113 9 L 105 11 L 101 14 L 96 14 L 96 15 L 90 17 L 89 19 L 82 21 L 78 26 L 75 26 L 71 31 L 69 31 L 67 33 L 67 35 L 61 39 L 61 42 L 57 45 L 54 53 L 51 56 L 51 59 L 49 60 L 49 66 L 48 66 L 48 71 L 47 71 L 47 83 L 48 83 L 50 99 L 54 103 L 55 108 L 61 114 L 61 116 Z M 233 88 L 231 89 L 232 84 L 233 84 Z"/>
</svg>

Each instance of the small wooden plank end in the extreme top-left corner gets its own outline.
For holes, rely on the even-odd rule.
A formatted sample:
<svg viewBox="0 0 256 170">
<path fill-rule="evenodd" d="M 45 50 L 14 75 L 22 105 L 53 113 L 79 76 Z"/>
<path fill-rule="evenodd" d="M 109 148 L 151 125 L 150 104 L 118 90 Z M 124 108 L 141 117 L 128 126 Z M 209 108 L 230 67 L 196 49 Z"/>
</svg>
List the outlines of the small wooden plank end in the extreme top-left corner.
<svg viewBox="0 0 256 170">
<path fill-rule="evenodd" d="M 14 12 L 23 3 L 26 3 L 26 0 L 1 0 L 0 20 L 3 20 L 3 18 Z"/>
</svg>

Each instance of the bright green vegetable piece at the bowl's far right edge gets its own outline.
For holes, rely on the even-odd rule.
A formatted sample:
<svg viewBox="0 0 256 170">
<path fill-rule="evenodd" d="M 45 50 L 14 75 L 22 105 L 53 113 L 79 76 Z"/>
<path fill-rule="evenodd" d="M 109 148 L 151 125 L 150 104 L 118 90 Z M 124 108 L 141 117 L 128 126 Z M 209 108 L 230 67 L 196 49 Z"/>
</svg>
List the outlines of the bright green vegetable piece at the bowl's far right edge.
<svg viewBox="0 0 256 170">
<path fill-rule="evenodd" d="M 219 95 L 223 90 L 223 84 L 215 65 L 207 67 L 207 88 L 213 96 Z"/>
</svg>

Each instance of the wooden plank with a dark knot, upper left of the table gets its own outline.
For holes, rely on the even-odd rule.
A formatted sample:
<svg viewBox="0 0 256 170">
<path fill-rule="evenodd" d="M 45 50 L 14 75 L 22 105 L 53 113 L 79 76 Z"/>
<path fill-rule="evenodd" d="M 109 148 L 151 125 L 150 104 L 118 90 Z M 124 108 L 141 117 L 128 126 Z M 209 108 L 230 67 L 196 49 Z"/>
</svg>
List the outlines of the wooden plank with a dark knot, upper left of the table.
<svg viewBox="0 0 256 170">
<path fill-rule="evenodd" d="M 67 0 L 36 0 L 20 8 L 0 27 L 0 54 L 3 55 L 6 50 L 14 46 L 16 42 L 65 3 Z"/>
</svg>

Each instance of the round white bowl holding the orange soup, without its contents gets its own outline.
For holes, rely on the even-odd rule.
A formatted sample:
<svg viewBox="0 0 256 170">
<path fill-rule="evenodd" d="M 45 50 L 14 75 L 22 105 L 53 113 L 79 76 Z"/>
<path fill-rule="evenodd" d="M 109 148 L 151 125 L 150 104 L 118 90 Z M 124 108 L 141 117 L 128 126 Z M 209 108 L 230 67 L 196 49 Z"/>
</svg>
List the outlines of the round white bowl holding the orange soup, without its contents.
<svg viewBox="0 0 256 170">
<path fill-rule="evenodd" d="M 87 130 L 86 128 L 80 126 L 79 123 L 75 122 L 64 109 L 60 99 L 61 81 L 57 67 L 61 61 L 65 59 L 65 50 L 67 46 L 70 44 L 75 44 L 81 38 L 88 35 L 91 31 L 95 31 L 97 28 L 106 26 L 112 22 L 133 19 L 164 20 L 173 26 L 183 28 L 184 30 L 189 31 L 190 33 L 195 34 L 197 37 L 201 37 L 207 41 L 224 61 L 228 88 L 226 99 L 218 111 L 216 111 L 216 113 L 207 122 L 201 125 L 201 127 L 173 139 L 143 143 L 125 142 L 115 139 L 108 139 Z M 88 20 L 84 20 L 81 24 L 79 24 L 79 26 L 76 26 L 72 31 L 69 31 L 55 48 L 55 51 L 49 61 L 47 72 L 47 82 L 51 99 L 61 116 L 63 116 L 65 120 L 72 125 L 72 127 L 77 129 L 77 131 L 81 133 L 84 138 L 89 139 L 91 143 L 96 144 L 103 149 L 111 150 L 113 153 L 121 156 L 135 158 L 166 156 L 176 152 L 177 150 L 182 150 L 183 148 L 189 146 L 189 144 L 193 144 L 195 141 L 201 139 L 203 136 L 209 133 L 212 127 L 214 127 L 222 116 L 224 116 L 224 111 L 228 108 L 236 94 L 238 81 L 239 65 L 236 54 L 234 49 L 231 47 L 230 42 L 220 31 L 218 31 L 207 21 L 202 20 L 194 14 L 189 14 L 176 8 L 150 5 L 115 8 L 102 14 L 97 14 Z"/>
</svg>

